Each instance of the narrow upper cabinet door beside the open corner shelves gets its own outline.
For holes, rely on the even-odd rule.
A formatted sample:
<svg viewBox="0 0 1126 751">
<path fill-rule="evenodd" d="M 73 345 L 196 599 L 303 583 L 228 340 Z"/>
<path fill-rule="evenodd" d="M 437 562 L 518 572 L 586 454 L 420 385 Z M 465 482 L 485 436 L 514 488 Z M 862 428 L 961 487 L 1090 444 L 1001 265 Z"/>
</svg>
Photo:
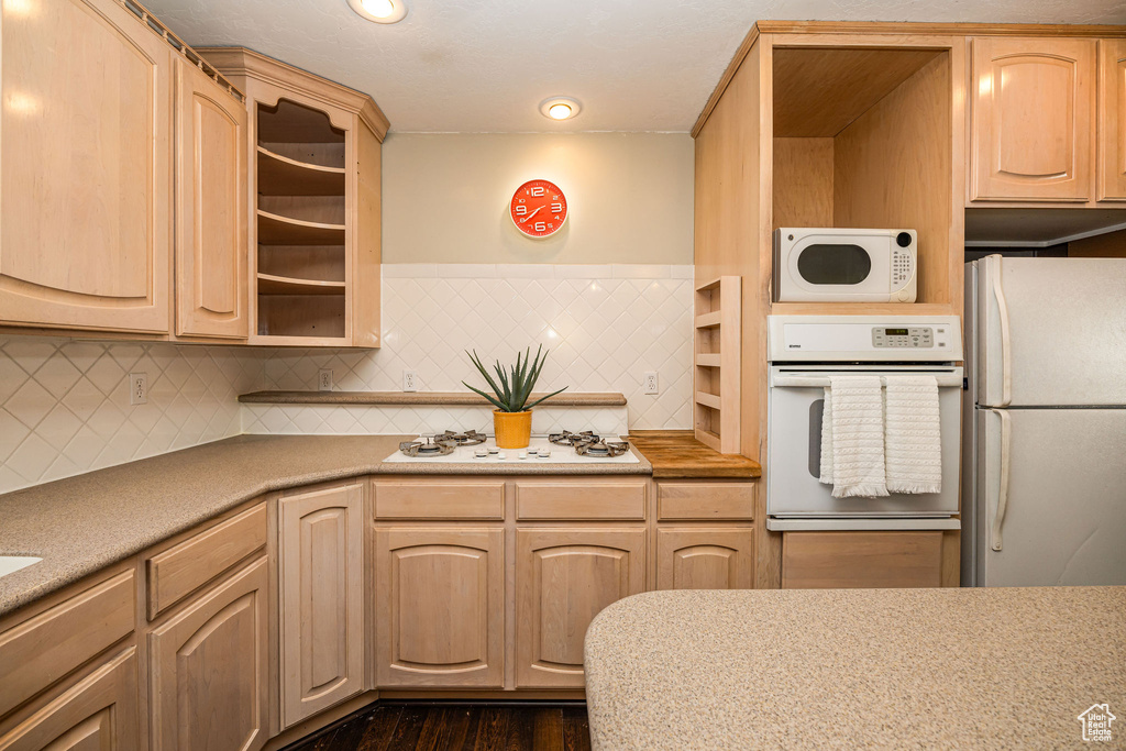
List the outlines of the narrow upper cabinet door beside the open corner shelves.
<svg viewBox="0 0 1126 751">
<path fill-rule="evenodd" d="M 247 109 L 182 60 L 177 106 L 176 333 L 245 339 Z"/>
</svg>

